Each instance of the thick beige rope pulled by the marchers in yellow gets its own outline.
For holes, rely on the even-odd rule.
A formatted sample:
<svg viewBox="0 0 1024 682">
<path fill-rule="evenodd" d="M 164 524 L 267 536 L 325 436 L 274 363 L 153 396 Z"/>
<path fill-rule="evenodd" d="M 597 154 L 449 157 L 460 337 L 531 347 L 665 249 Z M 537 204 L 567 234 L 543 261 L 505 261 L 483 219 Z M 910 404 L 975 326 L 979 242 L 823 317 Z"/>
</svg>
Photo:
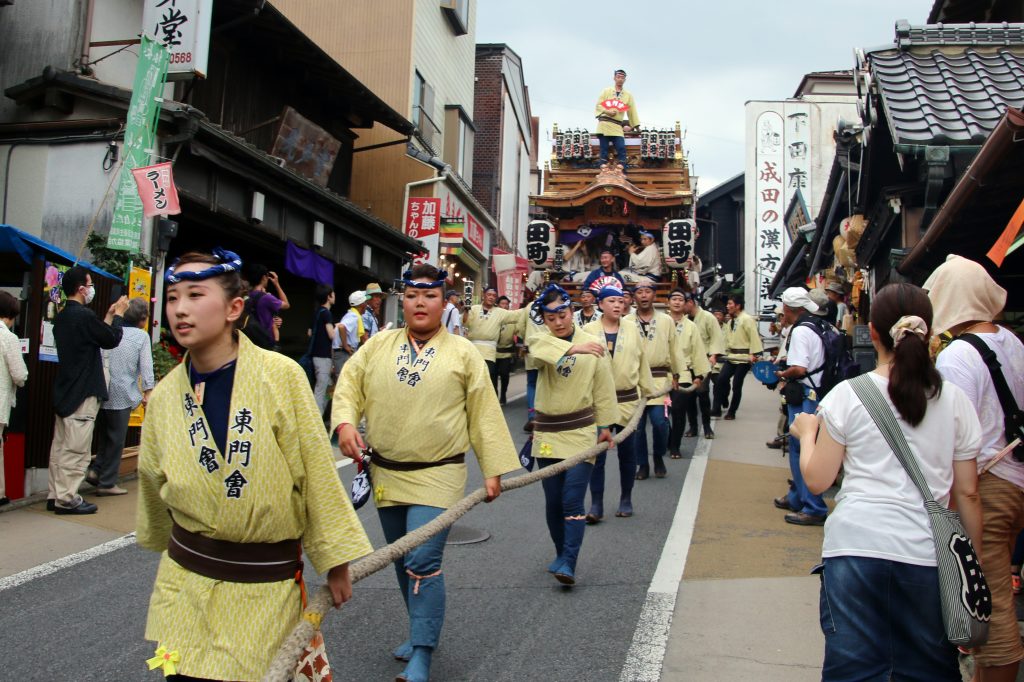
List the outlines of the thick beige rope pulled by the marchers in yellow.
<svg viewBox="0 0 1024 682">
<path fill-rule="evenodd" d="M 634 412 L 633 416 L 630 418 L 629 423 L 623 428 L 622 431 L 615 434 L 613 440 L 616 445 L 636 431 L 637 424 L 640 423 L 640 417 L 643 415 L 643 411 L 647 408 L 647 400 L 665 395 L 667 392 L 668 391 L 662 391 L 660 393 L 655 393 L 650 396 L 644 396 L 640 400 L 640 403 L 637 406 L 636 412 Z M 515 476 L 513 478 L 502 480 L 502 492 L 504 493 L 507 491 L 525 487 L 539 480 L 550 478 L 551 476 L 568 471 L 581 462 L 593 459 L 610 447 L 611 445 L 602 441 L 578 455 L 573 455 L 572 457 L 562 460 L 557 464 L 553 464 L 550 467 L 545 467 L 521 476 Z M 409 535 L 402 536 L 390 545 L 386 545 L 372 554 L 368 554 L 362 557 L 353 563 L 349 568 L 352 584 L 354 585 L 362 579 L 369 578 L 377 571 L 387 568 L 399 558 L 406 556 L 412 550 L 427 542 L 441 530 L 452 527 L 452 525 L 465 516 L 470 509 L 483 502 L 486 499 L 486 496 L 487 492 L 484 488 L 477 488 L 429 523 L 420 526 Z M 288 680 L 292 679 L 292 676 L 295 674 L 295 666 L 299 659 L 299 655 L 309 644 L 309 640 L 312 639 L 313 634 L 316 632 L 313 621 L 318 624 L 324 616 L 328 614 L 333 605 L 334 601 L 331 598 L 331 590 L 328 589 L 327 586 L 321 587 L 310 596 L 303 619 L 299 621 L 298 625 L 295 626 L 295 629 L 292 630 L 292 633 L 282 642 L 281 648 L 278 649 L 278 653 L 273 657 L 273 662 L 270 664 L 266 674 L 263 676 L 263 682 L 288 682 Z"/>
</svg>

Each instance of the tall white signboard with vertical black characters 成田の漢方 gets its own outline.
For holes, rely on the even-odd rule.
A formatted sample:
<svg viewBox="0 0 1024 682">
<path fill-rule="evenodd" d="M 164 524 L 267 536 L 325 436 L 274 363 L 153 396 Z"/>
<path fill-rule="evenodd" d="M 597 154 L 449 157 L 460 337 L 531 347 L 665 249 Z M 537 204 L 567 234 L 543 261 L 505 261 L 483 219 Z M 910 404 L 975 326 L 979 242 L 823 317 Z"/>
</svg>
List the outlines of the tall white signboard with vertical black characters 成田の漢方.
<svg viewBox="0 0 1024 682">
<path fill-rule="evenodd" d="M 784 130 L 782 116 L 777 112 L 764 112 L 758 117 L 753 287 L 758 313 L 774 307 L 770 285 L 785 256 L 782 214 L 792 193 L 786 190 Z"/>
</svg>

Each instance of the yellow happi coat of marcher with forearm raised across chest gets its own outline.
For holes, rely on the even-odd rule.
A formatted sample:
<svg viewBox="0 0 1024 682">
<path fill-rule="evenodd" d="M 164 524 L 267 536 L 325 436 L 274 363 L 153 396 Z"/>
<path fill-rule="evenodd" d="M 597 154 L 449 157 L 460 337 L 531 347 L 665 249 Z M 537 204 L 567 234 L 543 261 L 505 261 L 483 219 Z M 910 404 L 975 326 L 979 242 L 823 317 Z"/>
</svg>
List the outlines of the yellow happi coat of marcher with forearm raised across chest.
<svg viewBox="0 0 1024 682">
<path fill-rule="evenodd" d="M 534 457 L 564 460 L 597 442 L 597 427 L 618 421 L 615 381 L 608 355 L 566 355 L 574 344 L 594 342 L 604 345 L 604 338 L 575 329 L 572 340 L 551 334 L 536 335 L 529 352 L 538 363 L 535 407 L 545 415 L 566 415 L 586 408 L 594 409 L 596 425 L 582 426 L 556 433 L 534 432 Z"/>
</svg>

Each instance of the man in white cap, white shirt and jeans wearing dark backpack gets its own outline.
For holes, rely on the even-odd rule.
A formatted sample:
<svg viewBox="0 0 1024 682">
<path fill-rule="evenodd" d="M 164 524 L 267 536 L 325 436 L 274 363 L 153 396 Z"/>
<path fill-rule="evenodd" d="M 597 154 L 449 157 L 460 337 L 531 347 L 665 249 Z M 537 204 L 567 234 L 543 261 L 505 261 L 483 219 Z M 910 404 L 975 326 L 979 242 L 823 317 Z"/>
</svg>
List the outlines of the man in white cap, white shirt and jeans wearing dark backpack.
<svg viewBox="0 0 1024 682">
<path fill-rule="evenodd" d="M 783 372 L 775 376 L 784 379 L 786 391 L 786 412 L 792 425 L 797 415 L 813 415 L 818 409 L 817 389 L 821 385 L 821 375 L 825 365 L 825 348 L 813 325 L 821 321 L 811 321 L 811 313 L 818 306 L 807 295 L 803 287 L 790 287 L 782 292 L 782 322 L 792 325 L 787 339 L 786 365 Z M 807 489 L 804 476 L 800 473 L 800 439 L 790 438 L 790 472 L 793 484 L 790 492 L 775 498 L 775 506 L 790 513 L 785 522 L 796 525 L 824 525 L 828 508 L 820 495 Z"/>
</svg>

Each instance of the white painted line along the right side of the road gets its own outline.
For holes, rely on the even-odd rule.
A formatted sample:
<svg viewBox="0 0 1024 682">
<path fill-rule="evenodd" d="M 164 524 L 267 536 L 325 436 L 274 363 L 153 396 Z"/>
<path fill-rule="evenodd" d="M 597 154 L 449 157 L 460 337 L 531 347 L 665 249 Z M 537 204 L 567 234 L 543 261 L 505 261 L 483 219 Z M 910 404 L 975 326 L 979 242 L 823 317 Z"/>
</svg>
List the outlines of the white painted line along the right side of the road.
<svg viewBox="0 0 1024 682">
<path fill-rule="evenodd" d="M 620 682 L 658 682 L 662 678 L 662 666 L 672 629 L 672 614 L 676 609 L 676 594 L 683 580 L 686 557 L 693 540 L 693 526 L 696 524 L 711 444 L 711 440 L 700 438 L 686 471 L 676 515 L 672 519 L 672 527 L 669 528 L 669 537 L 662 549 L 662 558 L 654 569 L 654 577 L 647 588 L 647 597 L 640 610 L 633 643 L 626 654 Z"/>
</svg>

